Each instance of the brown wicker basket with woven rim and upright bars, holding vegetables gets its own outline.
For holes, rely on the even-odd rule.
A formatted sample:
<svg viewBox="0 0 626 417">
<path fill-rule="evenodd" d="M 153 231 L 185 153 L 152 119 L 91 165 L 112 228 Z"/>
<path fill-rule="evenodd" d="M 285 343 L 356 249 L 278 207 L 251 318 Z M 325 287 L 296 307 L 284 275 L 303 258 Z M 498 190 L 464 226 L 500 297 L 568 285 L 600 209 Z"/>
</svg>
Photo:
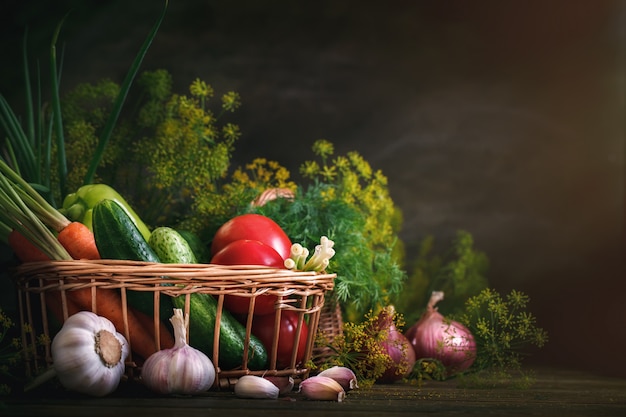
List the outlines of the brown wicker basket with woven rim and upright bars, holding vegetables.
<svg viewBox="0 0 626 417">
<path fill-rule="evenodd" d="M 218 388 L 232 388 L 243 375 L 292 376 L 303 379 L 308 376 L 307 363 L 313 356 L 315 337 L 324 307 L 325 294 L 333 289 L 335 274 L 316 272 L 297 272 L 285 269 L 273 269 L 259 266 L 220 266 L 213 264 L 161 264 L 135 261 L 85 260 L 33 262 L 18 266 L 12 271 L 18 289 L 18 305 L 22 328 L 22 342 L 25 347 L 26 372 L 36 374 L 42 367 L 52 362 L 50 341 L 54 337 L 47 302 L 52 294 L 60 295 L 63 320 L 68 317 L 67 295 L 71 291 L 89 288 L 92 297 L 92 311 L 98 313 L 96 300 L 99 289 L 119 290 L 122 300 L 123 317 L 127 317 L 126 298 L 132 291 L 151 292 L 154 295 L 154 343 L 160 349 L 159 303 L 161 297 L 186 297 L 185 317 L 189 314 L 189 297 L 193 293 L 207 293 L 217 300 L 217 320 L 214 329 L 214 349 L 208 356 L 216 365 Z M 293 310 L 299 314 L 300 326 L 306 321 L 309 332 L 306 341 L 304 360 L 296 363 L 296 354 L 292 355 L 291 366 L 276 367 L 276 341 L 278 328 L 274 329 L 274 343 L 268 350 L 267 369 L 248 369 L 247 349 L 244 350 L 242 363 L 235 369 L 222 369 L 219 359 L 220 317 L 225 294 L 255 298 L 261 294 L 278 296 L 275 308 L 280 312 Z M 251 303 L 253 304 L 253 303 Z M 246 341 L 251 333 L 253 315 L 248 315 Z M 58 323 L 57 323 L 58 324 Z M 128 323 L 118 329 L 130 343 Z M 39 336 L 45 336 L 41 338 Z M 190 331 L 188 338 L 193 338 Z M 40 340 L 44 340 L 41 346 Z M 297 345 L 297 344 L 296 344 Z M 132 350 L 132 345 L 130 346 Z M 294 347 L 294 351 L 298 347 Z M 140 365 L 131 357 L 127 362 L 127 374 L 136 377 L 140 374 Z"/>
</svg>

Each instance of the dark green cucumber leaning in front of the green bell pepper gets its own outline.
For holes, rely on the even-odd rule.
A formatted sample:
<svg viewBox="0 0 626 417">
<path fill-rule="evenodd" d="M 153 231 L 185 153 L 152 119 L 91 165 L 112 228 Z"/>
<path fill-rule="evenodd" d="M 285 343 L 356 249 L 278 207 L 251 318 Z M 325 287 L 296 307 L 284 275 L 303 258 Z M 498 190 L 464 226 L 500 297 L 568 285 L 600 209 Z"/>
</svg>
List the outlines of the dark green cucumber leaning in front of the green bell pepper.
<svg viewBox="0 0 626 417">
<path fill-rule="evenodd" d="M 113 200 L 102 200 L 93 208 L 93 234 L 102 259 L 161 261 L 132 219 Z M 127 291 L 126 298 L 130 306 L 154 316 L 152 291 Z M 173 308 L 171 297 L 160 297 L 159 315 L 163 323 L 169 323 Z"/>
</svg>

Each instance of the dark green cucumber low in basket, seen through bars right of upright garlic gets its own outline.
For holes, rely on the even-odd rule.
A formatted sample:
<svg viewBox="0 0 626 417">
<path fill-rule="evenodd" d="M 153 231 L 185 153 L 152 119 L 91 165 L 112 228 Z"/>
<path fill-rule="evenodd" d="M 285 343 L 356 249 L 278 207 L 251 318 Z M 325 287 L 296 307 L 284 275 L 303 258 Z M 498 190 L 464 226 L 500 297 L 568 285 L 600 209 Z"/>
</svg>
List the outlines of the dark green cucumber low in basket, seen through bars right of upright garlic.
<svg viewBox="0 0 626 417">
<path fill-rule="evenodd" d="M 185 296 L 172 298 L 176 308 L 185 309 Z M 213 334 L 217 316 L 217 300 L 211 294 L 193 293 L 189 298 L 189 345 L 213 357 Z M 224 370 L 240 367 L 246 328 L 227 310 L 222 310 L 220 319 L 219 367 Z M 261 370 L 267 367 L 268 356 L 261 341 L 250 335 L 248 346 L 248 368 Z M 216 366 L 218 364 L 215 364 Z"/>
</svg>

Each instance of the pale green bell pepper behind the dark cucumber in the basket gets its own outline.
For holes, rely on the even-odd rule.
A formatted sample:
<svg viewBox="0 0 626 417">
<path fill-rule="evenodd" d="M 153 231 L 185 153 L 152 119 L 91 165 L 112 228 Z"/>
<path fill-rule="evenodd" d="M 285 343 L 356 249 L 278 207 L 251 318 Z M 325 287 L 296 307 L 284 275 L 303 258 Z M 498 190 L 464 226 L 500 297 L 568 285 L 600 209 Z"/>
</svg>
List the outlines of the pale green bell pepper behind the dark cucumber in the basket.
<svg viewBox="0 0 626 417">
<path fill-rule="evenodd" d="M 88 184 L 80 187 L 75 193 L 68 194 L 63 200 L 63 207 L 59 209 L 67 218 L 72 221 L 83 223 L 90 230 L 92 227 L 93 208 L 102 200 L 116 201 L 126 214 L 133 220 L 139 232 L 146 239 L 150 240 L 150 229 L 135 213 L 133 208 L 126 202 L 115 189 L 106 184 Z"/>
</svg>

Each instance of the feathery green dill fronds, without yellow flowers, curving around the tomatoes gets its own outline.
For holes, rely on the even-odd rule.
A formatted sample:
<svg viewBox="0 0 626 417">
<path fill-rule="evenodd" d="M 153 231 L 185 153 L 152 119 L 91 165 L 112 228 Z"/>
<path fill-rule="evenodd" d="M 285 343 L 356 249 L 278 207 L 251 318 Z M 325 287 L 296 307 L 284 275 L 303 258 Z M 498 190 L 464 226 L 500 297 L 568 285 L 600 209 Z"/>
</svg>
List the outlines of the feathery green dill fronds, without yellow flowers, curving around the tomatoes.
<svg viewBox="0 0 626 417">
<path fill-rule="evenodd" d="M 293 200 L 276 199 L 249 210 L 274 219 L 292 242 L 314 247 L 321 236 L 335 242 L 327 272 L 336 273 L 334 295 L 354 318 L 376 309 L 397 295 L 405 278 L 393 257 L 393 246 L 372 247 L 365 234 L 366 219 L 353 205 L 328 199 L 327 184 L 299 188 Z"/>
</svg>

